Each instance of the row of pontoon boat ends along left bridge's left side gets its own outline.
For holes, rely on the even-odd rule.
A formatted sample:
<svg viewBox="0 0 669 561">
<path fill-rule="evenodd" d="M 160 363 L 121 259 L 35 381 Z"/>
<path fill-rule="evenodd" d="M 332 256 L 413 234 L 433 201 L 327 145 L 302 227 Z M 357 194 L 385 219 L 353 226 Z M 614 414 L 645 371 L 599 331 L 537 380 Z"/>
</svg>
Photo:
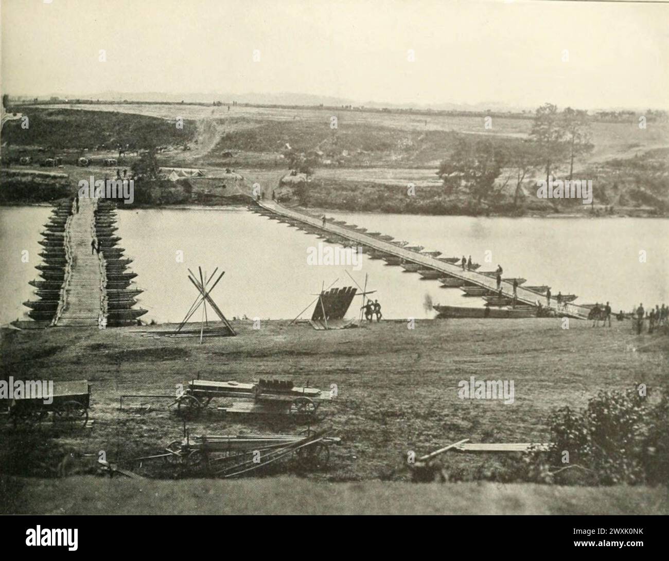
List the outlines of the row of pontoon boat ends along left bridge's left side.
<svg viewBox="0 0 669 561">
<path fill-rule="evenodd" d="M 35 266 L 41 280 L 32 280 L 37 300 L 27 300 L 23 306 L 30 308 L 28 316 L 35 321 L 51 322 L 58 310 L 68 259 L 65 247 L 65 229 L 72 215 L 72 201 L 60 203 L 51 211 L 49 222 L 41 232 L 39 245 L 44 247 L 39 253 L 42 263 Z"/>
</svg>

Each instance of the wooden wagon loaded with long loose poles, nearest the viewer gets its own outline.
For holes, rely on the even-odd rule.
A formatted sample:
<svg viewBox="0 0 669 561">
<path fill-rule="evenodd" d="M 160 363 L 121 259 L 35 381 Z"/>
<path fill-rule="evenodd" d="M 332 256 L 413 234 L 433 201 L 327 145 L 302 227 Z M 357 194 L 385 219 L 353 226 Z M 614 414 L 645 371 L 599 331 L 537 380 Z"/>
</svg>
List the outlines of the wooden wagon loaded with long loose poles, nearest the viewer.
<svg viewBox="0 0 669 561">
<path fill-rule="evenodd" d="M 328 431 L 305 431 L 301 435 L 199 435 L 173 441 L 165 457 L 190 470 L 221 477 L 235 477 L 294 455 L 302 467 L 322 469 L 328 465 L 330 446 L 340 439 Z"/>
</svg>

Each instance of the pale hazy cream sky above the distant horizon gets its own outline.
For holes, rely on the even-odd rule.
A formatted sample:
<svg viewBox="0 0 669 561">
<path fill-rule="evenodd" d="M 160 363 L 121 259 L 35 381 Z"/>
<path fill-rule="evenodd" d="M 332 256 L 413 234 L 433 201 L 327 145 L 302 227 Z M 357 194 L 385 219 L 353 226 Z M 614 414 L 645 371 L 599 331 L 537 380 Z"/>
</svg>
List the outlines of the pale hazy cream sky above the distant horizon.
<svg viewBox="0 0 669 561">
<path fill-rule="evenodd" d="M 2 89 L 12 95 L 300 92 L 407 104 L 669 106 L 667 4 L 1 0 L 1 7 Z"/>
</svg>

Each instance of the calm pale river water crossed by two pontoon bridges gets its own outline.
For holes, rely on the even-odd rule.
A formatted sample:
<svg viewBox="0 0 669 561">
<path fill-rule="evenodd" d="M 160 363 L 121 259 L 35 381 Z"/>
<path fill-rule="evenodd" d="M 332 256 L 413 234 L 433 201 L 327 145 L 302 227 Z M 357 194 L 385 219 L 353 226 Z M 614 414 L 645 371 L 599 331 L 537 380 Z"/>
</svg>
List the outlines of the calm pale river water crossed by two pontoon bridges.
<svg viewBox="0 0 669 561">
<path fill-rule="evenodd" d="M 23 316 L 21 302 L 34 299 L 27 284 L 34 269 L 48 207 L 0 209 L 4 267 L 0 271 L 0 322 Z M 577 302 L 609 300 L 614 308 L 630 310 L 669 304 L 669 221 L 666 219 L 472 218 L 413 215 L 328 213 L 339 219 L 439 249 L 444 255 L 472 255 L 482 269 L 504 267 L 504 275 L 522 276 L 527 284 L 549 284 L 553 294 L 579 295 Z M 187 269 L 225 276 L 212 296 L 226 316 L 294 318 L 320 290 L 322 283 L 359 284 L 369 275 L 368 290 L 376 290 L 387 318 L 433 317 L 425 306 L 479 306 L 482 300 L 464 298 L 457 289 L 444 289 L 417 273 L 363 255 L 362 268 L 352 265 L 308 265 L 308 247 L 322 240 L 270 221 L 246 209 L 121 210 L 118 235 L 126 256 L 132 257 L 135 281 L 145 290 L 140 305 L 149 314 L 142 320 L 179 322 L 195 299 Z M 325 244 L 329 245 L 329 244 Z M 28 251 L 23 263 L 21 251 Z M 486 251 L 492 262 L 485 263 Z M 640 251 L 646 263 L 640 263 Z M 178 257 L 183 252 L 183 262 Z M 196 272 L 197 274 L 197 272 Z M 349 310 L 354 316 L 356 298 Z M 310 316 L 312 308 L 309 308 Z M 210 316 L 211 317 L 211 316 Z M 199 320 L 193 318 L 193 320 Z"/>
</svg>

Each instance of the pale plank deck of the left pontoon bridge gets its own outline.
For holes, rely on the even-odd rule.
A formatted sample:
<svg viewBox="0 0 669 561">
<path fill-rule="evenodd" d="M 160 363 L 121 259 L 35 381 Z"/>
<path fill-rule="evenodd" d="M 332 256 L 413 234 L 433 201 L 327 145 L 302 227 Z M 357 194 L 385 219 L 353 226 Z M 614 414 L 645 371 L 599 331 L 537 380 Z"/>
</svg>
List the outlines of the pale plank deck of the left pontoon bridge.
<svg viewBox="0 0 669 561">
<path fill-rule="evenodd" d="M 68 265 L 54 326 L 100 325 L 103 317 L 104 279 L 102 253 L 92 251 L 95 235 L 94 210 L 98 199 L 80 197 L 79 212 L 70 216 L 65 243 Z"/>
</svg>

